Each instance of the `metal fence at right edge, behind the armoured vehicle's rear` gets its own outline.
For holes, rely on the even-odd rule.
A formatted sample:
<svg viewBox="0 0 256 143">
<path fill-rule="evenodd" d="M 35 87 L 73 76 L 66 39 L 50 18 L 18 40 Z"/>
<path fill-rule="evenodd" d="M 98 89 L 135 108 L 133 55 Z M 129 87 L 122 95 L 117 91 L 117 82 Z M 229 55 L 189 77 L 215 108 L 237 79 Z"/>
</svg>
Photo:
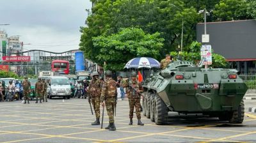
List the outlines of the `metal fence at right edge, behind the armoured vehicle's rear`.
<svg viewBox="0 0 256 143">
<path fill-rule="evenodd" d="M 256 89 L 256 73 L 242 73 L 239 77 L 243 79 L 248 89 Z"/>
</svg>

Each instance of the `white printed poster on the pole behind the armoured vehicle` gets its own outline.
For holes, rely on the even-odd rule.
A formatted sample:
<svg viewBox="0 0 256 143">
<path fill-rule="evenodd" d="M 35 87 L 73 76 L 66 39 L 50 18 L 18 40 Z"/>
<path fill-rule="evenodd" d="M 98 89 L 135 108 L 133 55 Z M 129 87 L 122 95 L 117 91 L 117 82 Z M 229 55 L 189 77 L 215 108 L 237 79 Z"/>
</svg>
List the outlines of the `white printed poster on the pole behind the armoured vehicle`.
<svg viewBox="0 0 256 143">
<path fill-rule="evenodd" d="M 204 65 L 212 64 L 212 47 L 211 45 L 202 45 L 201 47 L 201 59 L 204 60 Z"/>
</svg>

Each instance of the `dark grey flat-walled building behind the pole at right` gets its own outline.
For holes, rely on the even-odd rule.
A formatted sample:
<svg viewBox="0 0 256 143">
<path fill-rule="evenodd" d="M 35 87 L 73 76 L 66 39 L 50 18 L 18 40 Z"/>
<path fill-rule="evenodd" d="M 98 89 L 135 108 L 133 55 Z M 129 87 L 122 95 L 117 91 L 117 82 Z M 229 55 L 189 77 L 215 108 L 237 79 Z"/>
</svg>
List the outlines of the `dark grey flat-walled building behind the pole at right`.
<svg viewBox="0 0 256 143">
<path fill-rule="evenodd" d="M 196 26 L 196 40 L 202 42 L 204 23 Z M 230 68 L 255 73 L 256 20 L 208 22 L 207 34 L 212 50 L 226 58 Z"/>
</svg>

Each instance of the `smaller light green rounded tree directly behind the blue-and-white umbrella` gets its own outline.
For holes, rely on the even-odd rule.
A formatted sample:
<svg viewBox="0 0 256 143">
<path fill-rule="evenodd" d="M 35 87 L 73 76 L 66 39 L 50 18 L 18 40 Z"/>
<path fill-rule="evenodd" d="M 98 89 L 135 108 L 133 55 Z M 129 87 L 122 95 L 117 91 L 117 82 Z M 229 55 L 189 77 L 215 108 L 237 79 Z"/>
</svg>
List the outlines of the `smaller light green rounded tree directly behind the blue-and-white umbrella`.
<svg viewBox="0 0 256 143">
<path fill-rule="evenodd" d="M 146 34 L 142 29 L 126 28 L 111 36 L 93 38 L 93 46 L 100 51 L 96 58 L 106 62 L 106 69 L 122 70 L 134 57 L 159 58 L 163 41 L 159 33 Z"/>
</svg>

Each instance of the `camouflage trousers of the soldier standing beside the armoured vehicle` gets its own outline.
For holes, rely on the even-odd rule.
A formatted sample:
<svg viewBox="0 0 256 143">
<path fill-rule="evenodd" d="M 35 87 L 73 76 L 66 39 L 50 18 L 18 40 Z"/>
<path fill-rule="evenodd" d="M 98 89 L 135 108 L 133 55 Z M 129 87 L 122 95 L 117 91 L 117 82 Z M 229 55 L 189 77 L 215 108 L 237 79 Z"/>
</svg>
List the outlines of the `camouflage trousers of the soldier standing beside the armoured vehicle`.
<svg viewBox="0 0 256 143">
<path fill-rule="evenodd" d="M 136 116 L 138 119 L 141 119 L 140 116 L 140 99 L 129 99 L 129 107 L 130 107 L 130 114 L 129 117 L 132 118 L 133 117 L 133 110 L 135 107 L 136 110 Z"/>
</svg>

